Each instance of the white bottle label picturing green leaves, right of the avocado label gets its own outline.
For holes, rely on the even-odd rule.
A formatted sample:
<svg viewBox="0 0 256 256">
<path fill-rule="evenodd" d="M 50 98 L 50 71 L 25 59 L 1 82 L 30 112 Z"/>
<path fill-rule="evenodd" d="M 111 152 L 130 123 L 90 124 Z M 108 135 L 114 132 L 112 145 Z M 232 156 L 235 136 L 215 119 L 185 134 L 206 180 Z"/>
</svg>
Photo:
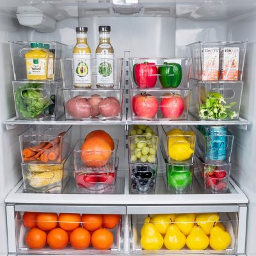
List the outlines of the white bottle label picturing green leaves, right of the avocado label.
<svg viewBox="0 0 256 256">
<path fill-rule="evenodd" d="M 114 84 L 114 54 L 96 54 L 97 76 L 96 84 Z"/>
</svg>

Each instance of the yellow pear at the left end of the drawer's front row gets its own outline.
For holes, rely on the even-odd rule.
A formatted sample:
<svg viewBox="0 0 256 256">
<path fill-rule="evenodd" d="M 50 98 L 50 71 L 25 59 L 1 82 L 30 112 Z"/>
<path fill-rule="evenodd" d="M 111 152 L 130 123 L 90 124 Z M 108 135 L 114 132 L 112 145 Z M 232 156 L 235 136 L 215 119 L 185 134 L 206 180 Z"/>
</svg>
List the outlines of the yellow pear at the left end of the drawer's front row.
<svg viewBox="0 0 256 256">
<path fill-rule="evenodd" d="M 141 247 L 145 250 L 160 250 L 164 244 L 163 236 L 157 231 L 152 223 L 145 224 L 143 236 L 141 236 Z"/>
</svg>

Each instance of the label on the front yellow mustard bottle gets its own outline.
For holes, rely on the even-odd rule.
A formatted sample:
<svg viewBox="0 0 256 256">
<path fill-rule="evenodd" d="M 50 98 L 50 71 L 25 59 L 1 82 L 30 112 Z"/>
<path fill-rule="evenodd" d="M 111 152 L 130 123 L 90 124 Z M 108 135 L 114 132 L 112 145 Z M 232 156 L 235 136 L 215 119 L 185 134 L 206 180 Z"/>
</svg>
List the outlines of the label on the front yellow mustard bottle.
<svg viewBox="0 0 256 256">
<path fill-rule="evenodd" d="M 26 58 L 27 72 L 29 76 L 45 76 L 46 65 L 45 58 Z"/>
</svg>

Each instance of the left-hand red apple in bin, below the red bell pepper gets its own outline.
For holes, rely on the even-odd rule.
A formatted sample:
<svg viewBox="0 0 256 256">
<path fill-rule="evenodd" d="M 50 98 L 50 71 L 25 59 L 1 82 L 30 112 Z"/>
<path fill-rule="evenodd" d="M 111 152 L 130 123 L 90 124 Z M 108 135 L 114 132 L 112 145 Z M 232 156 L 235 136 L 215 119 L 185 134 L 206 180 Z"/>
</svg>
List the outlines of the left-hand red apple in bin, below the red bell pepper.
<svg viewBox="0 0 256 256">
<path fill-rule="evenodd" d="M 134 110 L 136 115 L 145 118 L 156 116 L 159 104 L 156 97 L 150 94 L 142 94 L 135 100 Z"/>
</svg>

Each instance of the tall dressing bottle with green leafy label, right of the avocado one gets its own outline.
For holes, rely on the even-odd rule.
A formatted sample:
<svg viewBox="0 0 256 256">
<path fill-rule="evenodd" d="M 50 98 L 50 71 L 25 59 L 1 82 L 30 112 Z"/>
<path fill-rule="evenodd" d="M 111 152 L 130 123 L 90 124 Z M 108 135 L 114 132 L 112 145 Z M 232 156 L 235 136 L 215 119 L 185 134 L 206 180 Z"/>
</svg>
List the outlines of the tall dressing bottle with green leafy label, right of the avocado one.
<svg viewBox="0 0 256 256">
<path fill-rule="evenodd" d="M 99 26 L 100 42 L 96 49 L 97 88 L 113 88 L 114 81 L 114 49 L 110 43 L 110 26 Z"/>
</svg>

